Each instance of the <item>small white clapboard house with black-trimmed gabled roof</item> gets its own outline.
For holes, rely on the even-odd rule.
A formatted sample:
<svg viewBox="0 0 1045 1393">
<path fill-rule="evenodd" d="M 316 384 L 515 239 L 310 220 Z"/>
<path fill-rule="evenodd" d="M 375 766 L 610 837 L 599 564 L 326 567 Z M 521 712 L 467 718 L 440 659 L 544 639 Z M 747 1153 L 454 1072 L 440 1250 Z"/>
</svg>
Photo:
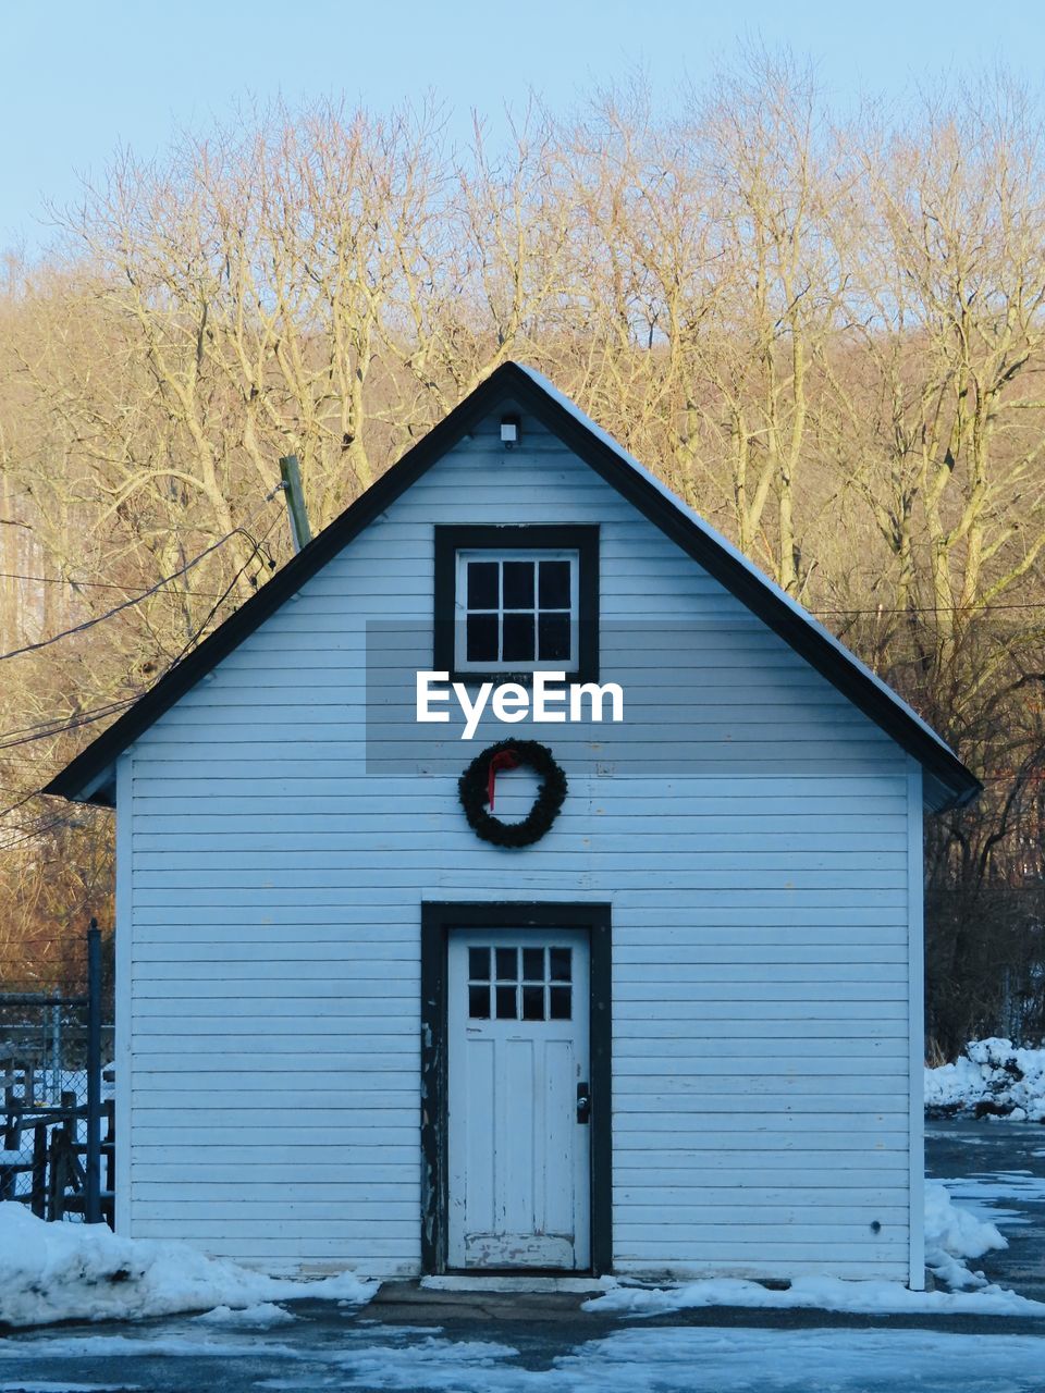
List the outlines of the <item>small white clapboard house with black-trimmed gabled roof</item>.
<svg viewBox="0 0 1045 1393">
<path fill-rule="evenodd" d="M 116 807 L 118 1230 L 920 1287 L 922 809 L 978 787 L 499 368 L 49 786 Z"/>
</svg>

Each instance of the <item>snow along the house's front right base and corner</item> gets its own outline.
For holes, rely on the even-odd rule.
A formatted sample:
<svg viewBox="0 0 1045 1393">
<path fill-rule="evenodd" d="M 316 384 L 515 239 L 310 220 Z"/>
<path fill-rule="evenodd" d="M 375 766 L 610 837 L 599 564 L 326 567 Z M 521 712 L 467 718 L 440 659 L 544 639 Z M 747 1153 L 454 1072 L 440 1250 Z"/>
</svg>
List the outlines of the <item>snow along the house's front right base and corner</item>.
<svg viewBox="0 0 1045 1393">
<path fill-rule="evenodd" d="M 982 1258 L 985 1252 L 1007 1247 L 992 1223 L 959 1209 L 943 1185 L 928 1181 L 925 1263 L 950 1291 L 910 1291 L 899 1282 L 843 1282 L 840 1277 L 794 1277 L 784 1291 L 771 1291 L 759 1282 L 712 1277 L 653 1290 L 619 1286 L 603 1297 L 585 1301 L 584 1309 L 659 1315 L 662 1311 L 732 1305 L 776 1311 L 814 1307 L 860 1315 L 1045 1315 L 1045 1302 L 989 1286 L 981 1273 L 966 1266 L 966 1258 Z"/>
</svg>

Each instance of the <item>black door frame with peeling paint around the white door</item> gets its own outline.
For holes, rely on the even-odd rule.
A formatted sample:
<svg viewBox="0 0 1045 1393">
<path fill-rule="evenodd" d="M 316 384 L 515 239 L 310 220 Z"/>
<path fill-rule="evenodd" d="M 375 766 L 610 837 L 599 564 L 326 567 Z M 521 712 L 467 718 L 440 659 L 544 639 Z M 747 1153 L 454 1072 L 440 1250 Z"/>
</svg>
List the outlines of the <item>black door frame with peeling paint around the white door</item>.
<svg viewBox="0 0 1045 1393">
<path fill-rule="evenodd" d="M 421 905 L 421 1265 L 447 1270 L 446 960 L 451 929 L 587 929 L 591 1048 L 591 1272 L 613 1268 L 612 915 L 609 904 L 426 901 Z"/>
</svg>

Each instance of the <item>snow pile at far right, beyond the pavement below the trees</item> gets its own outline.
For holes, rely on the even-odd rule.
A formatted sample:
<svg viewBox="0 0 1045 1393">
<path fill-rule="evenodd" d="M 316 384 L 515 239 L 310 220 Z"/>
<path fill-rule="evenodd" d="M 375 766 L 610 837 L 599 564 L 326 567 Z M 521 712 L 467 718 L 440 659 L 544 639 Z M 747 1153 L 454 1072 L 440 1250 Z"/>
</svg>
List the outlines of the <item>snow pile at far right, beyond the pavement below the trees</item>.
<svg viewBox="0 0 1045 1393">
<path fill-rule="evenodd" d="M 953 1064 L 925 1070 L 925 1110 L 1045 1123 L 1045 1049 L 1017 1049 L 998 1036 L 971 1041 Z"/>
</svg>

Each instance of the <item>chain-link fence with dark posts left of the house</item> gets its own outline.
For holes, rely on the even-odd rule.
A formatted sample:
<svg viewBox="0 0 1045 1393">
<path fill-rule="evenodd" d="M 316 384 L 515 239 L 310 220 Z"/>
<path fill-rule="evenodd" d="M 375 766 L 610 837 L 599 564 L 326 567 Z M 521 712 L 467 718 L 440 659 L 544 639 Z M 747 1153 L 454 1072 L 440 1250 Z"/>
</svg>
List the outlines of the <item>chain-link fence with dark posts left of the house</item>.
<svg viewBox="0 0 1045 1393">
<path fill-rule="evenodd" d="M 111 1050 L 92 922 L 84 996 L 0 990 L 0 1199 L 111 1223 Z"/>
</svg>

